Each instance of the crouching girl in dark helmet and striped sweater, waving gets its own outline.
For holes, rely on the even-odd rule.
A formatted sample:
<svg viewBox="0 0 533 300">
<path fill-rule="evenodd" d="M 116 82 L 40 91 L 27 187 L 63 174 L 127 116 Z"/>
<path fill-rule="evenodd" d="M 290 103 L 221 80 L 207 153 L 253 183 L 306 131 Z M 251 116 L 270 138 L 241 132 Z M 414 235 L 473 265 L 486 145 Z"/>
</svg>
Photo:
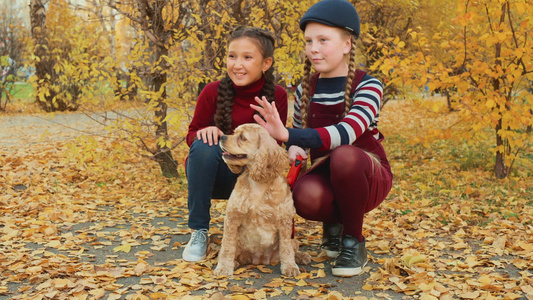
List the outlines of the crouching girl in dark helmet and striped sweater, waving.
<svg viewBox="0 0 533 300">
<path fill-rule="evenodd" d="M 275 103 L 256 98 L 256 121 L 289 146 L 291 160 L 311 169 L 293 187 L 297 213 L 323 222 L 322 248 L 334 257 L 335 276 L 354 276 L 366 265 L 364 214 L 392 186 L 392 172 L 377 128 L 383 87 L 356 69 L 359 15 L 346 0 L 323 0 L 300 20 L 306 41 L 302 83 L 296 91 L 294 128 L 286 128 Z M 312 68 L 316 73 L 312 74 Z"/>
</svg>

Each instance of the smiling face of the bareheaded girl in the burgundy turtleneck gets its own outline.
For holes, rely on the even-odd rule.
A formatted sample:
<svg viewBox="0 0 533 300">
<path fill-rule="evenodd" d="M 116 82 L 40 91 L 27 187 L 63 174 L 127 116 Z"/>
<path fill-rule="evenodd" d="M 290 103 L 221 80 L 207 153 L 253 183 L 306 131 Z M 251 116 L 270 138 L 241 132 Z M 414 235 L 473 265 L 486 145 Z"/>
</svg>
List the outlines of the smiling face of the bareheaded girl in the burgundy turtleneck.
<svg viewBox="0 0 533 300">
<path fill-rule="evenodd" d="M 272 66 L 272 58 L 264 58 L 252 38 L 241 37 L 228 45 L 228 75 L 237 86 L 250 85 Z"/>
</svg>

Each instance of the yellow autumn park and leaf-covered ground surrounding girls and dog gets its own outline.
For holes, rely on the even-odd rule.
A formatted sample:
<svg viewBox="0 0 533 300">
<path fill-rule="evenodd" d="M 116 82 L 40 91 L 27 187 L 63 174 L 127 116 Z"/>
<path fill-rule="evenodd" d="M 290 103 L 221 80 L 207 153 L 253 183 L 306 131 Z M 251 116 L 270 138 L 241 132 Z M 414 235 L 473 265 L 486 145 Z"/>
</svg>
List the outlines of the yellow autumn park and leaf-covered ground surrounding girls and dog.
<svg viewBox="0 0 533 300">
<path fill-rule="evenodd" d="M 352 1 L 395 175 L 366 219 L 363 275 L 332 277 L 320 224 L 297 219 L 313 256 L 301 277 L 214 278 L 220 200 L 210 259 L 180 259 L 184 137 L 228 33 L 276 35 L 292 99 L 315 2 L 2 2 L 0 298 L 533 299 L 529 0 Z"/>
</svg>

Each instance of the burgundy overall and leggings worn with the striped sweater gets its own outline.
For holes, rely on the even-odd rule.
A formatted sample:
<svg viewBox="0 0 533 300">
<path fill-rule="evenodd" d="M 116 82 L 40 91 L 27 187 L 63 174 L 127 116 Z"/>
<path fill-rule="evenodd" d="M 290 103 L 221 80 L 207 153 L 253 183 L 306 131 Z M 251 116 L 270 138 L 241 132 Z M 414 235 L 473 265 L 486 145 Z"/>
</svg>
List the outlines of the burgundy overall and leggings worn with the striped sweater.
<svg viewBox="0 0 533 300">
<path fill-rule="evenodd" d="M 357 70 L 352 94 L 365 75 Z M 311 79 L 310 95 L 318 74 Z M 344 102 L 322 105 L 310 102 L 308 127 L 320 128 L 339 123 L 344 114 Z M 378 136 L 379 139 L 376 139 Z M 352 145 L 342 145 L 329 151 L 311 150 L 309 171 L 300 176 L 293 187 L 294 205 L 301 217 L 325 223 L 342 223 L 343 235 L 350 234 L 363 241 L 363 218 L 376 208 L 392 187 L 392 172 L 381 145 L 383 135 L 376 130 L 365 131 Z M 379 157 L 381 164 L 373 163 L 366 152 Z"/>
</svg>

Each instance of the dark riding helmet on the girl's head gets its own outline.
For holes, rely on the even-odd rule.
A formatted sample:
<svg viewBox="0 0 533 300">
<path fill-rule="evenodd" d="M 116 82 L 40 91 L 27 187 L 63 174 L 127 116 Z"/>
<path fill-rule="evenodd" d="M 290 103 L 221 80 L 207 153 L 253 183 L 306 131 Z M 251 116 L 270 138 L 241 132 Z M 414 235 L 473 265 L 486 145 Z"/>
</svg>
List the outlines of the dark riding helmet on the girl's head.
<svg viewBox="0 0 533 300">
<path fill-rule="evenodd" d="M 300 20 L 300 29 L 305 31 L 308 22 L 348 30 L 355 38 L 361 33 L 361 22 L 355 7 L 346 0 L 322 0 L 311 6 Z"/>
</svg>

